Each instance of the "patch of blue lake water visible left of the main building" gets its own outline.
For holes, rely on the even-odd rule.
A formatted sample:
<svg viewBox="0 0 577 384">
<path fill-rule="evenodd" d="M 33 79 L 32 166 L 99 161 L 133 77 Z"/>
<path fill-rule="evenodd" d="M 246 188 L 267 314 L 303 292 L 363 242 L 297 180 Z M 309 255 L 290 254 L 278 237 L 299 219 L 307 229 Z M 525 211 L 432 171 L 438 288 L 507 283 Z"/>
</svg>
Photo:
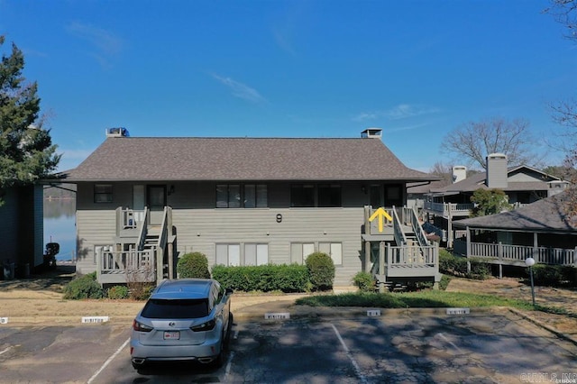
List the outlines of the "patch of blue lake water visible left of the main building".
<svg viewBox="0 0 577 384">
<path fill-rule="evenodd" d="M 76 260 L 76 199 L 44 199 L 44 247 L 47 242 L 60 244 L 57 261 Z"/>
</svg>

